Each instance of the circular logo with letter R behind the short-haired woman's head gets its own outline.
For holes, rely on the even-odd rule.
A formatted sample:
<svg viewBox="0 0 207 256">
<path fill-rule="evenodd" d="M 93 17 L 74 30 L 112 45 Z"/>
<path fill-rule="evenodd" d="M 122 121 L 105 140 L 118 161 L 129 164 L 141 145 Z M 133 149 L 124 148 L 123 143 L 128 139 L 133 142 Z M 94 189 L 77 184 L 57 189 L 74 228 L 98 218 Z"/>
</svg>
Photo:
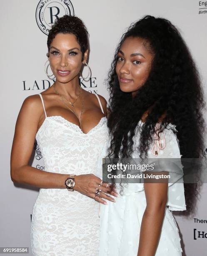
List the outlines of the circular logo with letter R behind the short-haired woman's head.
<svg viewBox="0 0 207 256">
<path fill-rule="evenodd" d="M 65 14 L 74 15 L 70 0 L 40 0 L 36 9 L 37 25 L 45 35 L 48 35 L 55 20 Z"/>
</svg>

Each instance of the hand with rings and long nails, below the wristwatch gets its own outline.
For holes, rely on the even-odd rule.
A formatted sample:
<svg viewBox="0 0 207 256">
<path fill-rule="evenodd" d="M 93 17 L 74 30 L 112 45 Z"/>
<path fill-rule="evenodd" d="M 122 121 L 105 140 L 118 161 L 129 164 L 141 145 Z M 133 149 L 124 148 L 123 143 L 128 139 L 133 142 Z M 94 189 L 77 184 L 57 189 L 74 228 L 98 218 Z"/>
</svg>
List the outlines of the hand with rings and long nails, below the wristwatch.
<svg viewBox="0 0 207 256">
<path fill-rule="evenodd" d="M 113 197 L 110 197 L 109 195 L 105 194 L 107 193 L 117 197 L 118 194 L 115 191 L 115 189 L 112 188 L 111 184 L 102 182 L 101 185 L 101 182 L 102 180 L 95 176 L 94 174 L 75 175 L 74 190 L 80 192 L 83 195 L 87 195 L 88 197 L 94 198 L 96 190 L 101 189 L 100 195 L 95 197 L 96 201 L 104 205 L 107 205 L 107 202 L 102 198 L 115 202 Z"/>
</svg>

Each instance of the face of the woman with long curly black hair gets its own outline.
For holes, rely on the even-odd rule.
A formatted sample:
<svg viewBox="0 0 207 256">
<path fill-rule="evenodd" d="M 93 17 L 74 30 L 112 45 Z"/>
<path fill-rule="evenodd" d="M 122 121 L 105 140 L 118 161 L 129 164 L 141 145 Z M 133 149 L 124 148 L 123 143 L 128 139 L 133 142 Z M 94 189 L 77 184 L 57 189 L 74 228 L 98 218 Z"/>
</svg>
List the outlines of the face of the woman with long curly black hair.
<svg viewBox="0 0 207 256">
<path fill-rule="evenodd" d="M 128 37 L 122 43 L 117 56 L 116 73 L 122 92 L 137 90 L 146 82 L 153 59 L 153 54 L 143 38 Z"/>
</svg>

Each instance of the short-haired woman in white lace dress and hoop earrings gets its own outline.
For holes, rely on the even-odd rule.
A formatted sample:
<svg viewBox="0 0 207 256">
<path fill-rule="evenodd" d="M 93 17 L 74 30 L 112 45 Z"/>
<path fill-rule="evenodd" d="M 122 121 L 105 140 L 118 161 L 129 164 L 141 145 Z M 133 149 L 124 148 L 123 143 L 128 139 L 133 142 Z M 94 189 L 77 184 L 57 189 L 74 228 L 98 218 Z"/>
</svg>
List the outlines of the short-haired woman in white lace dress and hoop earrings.
<svg viewBox="0 0 207 256">
<path fill-rule="evenodd" d="M 98 202 L 105 204 L 113 200 L 107 194 L 115 195 L 95 176 L 107 139 L 106 100 L 80 87 L 80 70 L 87 64 L 89 48 L 82 20 L 68 15 L 56 19 L 47 47 L 55 83 L 22 104 L 12 145 L 11 178 L 40 188 L 32 211 L 33 255 L 97 256 Z M 29 164 L 35 138 L 44 171 Z"/>
</svg>

